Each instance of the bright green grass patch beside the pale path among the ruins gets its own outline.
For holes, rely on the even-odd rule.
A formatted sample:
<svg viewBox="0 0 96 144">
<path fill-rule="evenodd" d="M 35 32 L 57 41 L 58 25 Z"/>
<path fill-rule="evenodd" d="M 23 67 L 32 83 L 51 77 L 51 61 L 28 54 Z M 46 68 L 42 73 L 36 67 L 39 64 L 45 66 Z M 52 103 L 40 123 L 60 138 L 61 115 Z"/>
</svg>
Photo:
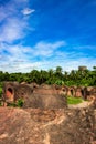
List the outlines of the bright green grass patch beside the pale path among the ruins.
<svg viewBox="0 0 96 144">
<path fill-rule="evenodd" d="M 81 97 L 67 96 L 67 104 L 79 104 L 82 102 L 83 102 L 83 99 Z"/>
</svg>

